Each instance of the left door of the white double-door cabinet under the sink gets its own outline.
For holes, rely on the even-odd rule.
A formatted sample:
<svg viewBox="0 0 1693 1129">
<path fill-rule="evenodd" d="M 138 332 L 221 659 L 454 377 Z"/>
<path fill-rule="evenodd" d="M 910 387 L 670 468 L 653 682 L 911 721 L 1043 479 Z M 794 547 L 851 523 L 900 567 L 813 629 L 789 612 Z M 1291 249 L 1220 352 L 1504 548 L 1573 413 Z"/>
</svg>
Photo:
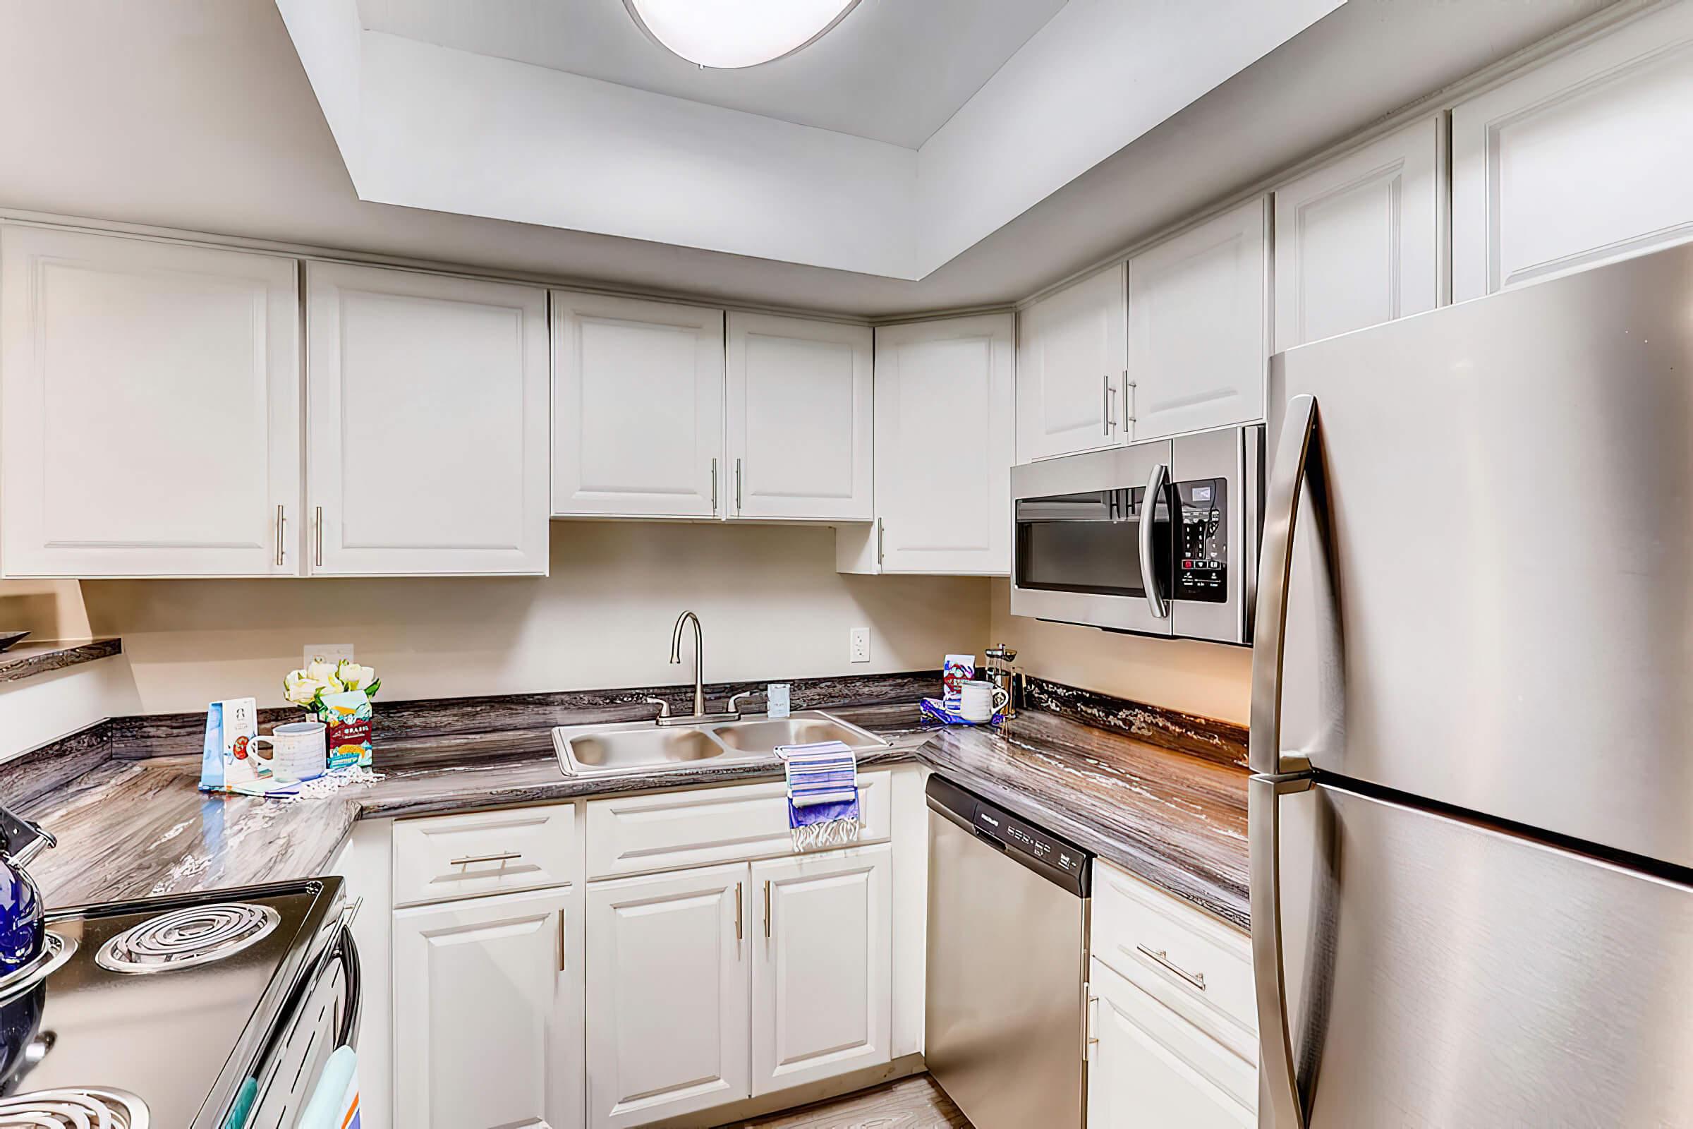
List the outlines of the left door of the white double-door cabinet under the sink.
<svg viewBox="0 0 1693 1129">
<path fill-rule="evenodd" d="M 748 1097 L 747 863 L 587 887 L 587 1110 L 642 1126 Z"/>
</svg>

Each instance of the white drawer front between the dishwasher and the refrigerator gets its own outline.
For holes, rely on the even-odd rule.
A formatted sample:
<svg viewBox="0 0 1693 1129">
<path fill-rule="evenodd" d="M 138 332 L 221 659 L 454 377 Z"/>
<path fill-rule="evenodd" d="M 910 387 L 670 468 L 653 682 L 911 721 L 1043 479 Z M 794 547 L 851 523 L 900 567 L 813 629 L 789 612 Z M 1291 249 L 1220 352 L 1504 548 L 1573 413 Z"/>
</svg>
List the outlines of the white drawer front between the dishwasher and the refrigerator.
<svg viewBox="0 0 1693 1129">
<path fill-rule="evenodd" d="M 1090 951 L 1248 1061 L 1258 1060 L 1251 938 L 1107 862 Z"/>
</svg>

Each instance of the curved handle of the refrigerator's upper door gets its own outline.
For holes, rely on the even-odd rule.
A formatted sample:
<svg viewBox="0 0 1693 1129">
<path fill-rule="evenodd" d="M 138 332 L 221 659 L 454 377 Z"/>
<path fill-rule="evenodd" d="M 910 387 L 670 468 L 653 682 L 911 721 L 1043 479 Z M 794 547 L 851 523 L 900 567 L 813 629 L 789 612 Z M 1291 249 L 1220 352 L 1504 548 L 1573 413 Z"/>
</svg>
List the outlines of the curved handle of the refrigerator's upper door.
<svg viewBox="0 0 1693 1129">
<path fill-rule="evenodd" d="M 1305 472 L 1315 450 L 1317 398 L 1287 401 L 1277 443 L 1258 569 L 1258 608 L 1253 621 L 1253 704 L 1248 762 L 1253 772 L 1307 772 L 1300 757 L 1282 755 L 1282 660 L 1287 652 L 1287 586 L 1293 565 L 1293 521 L 1305 493 Z"/>
</svg>

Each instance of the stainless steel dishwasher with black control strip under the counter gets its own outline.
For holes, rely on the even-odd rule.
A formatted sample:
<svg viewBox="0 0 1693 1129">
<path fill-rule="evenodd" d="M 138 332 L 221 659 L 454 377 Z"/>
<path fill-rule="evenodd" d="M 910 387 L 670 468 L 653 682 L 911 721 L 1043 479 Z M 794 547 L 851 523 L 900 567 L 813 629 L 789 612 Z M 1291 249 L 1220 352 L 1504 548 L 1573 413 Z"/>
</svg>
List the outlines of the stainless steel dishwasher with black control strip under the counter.
<svg viewBox="0 0 1693 1129">
<path fill-rule="evenodd" d="M 1080 1129 L 1092 855 L 931 775 L 924 1058 L 975 1129 Z"/>
</svg>

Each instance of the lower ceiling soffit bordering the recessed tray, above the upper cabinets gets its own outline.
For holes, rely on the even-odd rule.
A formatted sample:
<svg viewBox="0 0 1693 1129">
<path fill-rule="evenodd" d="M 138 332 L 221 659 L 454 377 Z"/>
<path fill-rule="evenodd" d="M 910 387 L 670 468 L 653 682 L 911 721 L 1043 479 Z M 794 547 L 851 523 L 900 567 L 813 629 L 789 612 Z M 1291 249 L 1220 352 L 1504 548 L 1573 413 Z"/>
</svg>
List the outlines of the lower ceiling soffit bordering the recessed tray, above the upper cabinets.
<svg viewBox="0 0 1693 1129">
<path fill-rule="evenodd" d="M 906 281 L 364 201 L 273 5 L 0 0 L 0 208 L 733 305 L 870 318 L 990 306 L 1607 3 L 1351 0 L 941 269 Z"/>
</svg>

